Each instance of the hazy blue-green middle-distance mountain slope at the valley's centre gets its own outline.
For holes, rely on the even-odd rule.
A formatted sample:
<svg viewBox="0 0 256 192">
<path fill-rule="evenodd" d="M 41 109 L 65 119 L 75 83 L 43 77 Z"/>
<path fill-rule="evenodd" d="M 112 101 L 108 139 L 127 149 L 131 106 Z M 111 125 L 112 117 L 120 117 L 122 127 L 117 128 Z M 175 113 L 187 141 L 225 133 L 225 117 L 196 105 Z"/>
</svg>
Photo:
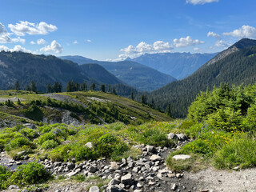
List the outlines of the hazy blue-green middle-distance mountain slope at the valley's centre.
<svg viewBox="0 0 256 192">
<path fill-rule="evenodd" d="M 176 80 L 168 74 L 163 74 L 158 70 L 154 70 L 148 66 L 139 64 L 138 62 L 101 62 L 83 58 L 81 56 L 63 56 L 60 58 L 77 62 L 79 65 L 98 63 L 111 74 L 114 74 L 115 77 L 121 79 L 122 82 L 143 91 L 157 90 Z"/>
</svg>

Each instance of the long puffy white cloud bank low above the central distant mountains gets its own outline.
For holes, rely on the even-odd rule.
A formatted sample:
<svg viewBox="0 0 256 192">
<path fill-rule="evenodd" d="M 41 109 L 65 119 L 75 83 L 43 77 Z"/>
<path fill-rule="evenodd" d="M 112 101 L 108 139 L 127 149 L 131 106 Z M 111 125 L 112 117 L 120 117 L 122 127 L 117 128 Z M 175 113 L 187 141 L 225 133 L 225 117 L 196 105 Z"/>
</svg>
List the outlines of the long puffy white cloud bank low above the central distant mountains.
<svg viewBox="0 0 256 192">
<path fill-rule="evenodd" d="M 119 58 L 135 58 L 142 54 L 156 54 L 156 53 L 170 53 L 173 49 L 173 46 L 170 45 L 169 42 L 157 41 L 152 45 L 147 44 L 146 42 L 140 42 L 137 46 L 127 46 L 120 51 L 124 52 L 124 54 L 120 54 Z"/>
</svg>

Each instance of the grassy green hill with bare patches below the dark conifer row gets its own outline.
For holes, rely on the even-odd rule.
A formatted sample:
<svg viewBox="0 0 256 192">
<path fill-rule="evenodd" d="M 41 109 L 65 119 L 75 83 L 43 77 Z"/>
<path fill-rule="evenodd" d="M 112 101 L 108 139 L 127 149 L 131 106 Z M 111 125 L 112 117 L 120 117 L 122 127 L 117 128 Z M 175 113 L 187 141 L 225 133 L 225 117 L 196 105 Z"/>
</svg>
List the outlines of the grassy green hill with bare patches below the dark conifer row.
<svg viewBox="0 0 256 192">
<path fill-rule="evenodd" d="M 19 99 L 19 102 L 18 102 Z M 62 122 L 72 125 L 86 123 L 124 122 L 141 124 L 151 120 L 169 121 L 171 118 L 149 106 L 100 91 L 62 94 L 33 94 L 29 91 L 0 91 L 1 126 L 15 122 Z M 16 117 L 16 118 L 15 118 Z M 5 122 L 5 123 L 3 123 Z"/>
</svg>

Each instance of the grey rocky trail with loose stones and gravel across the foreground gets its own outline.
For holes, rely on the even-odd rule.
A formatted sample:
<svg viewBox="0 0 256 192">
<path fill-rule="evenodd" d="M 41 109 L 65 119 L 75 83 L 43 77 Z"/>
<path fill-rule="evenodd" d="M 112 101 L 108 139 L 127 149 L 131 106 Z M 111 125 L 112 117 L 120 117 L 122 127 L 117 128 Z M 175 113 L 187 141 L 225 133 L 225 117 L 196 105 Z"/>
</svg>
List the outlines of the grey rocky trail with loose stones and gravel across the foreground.
<svg viewBox="0 0 256 192">
<path fill-rule="evenodd" d="M 188 141 L 180 141 L 184 144 Z M 87 146 L 90 146 L 88 143 Z M 47 170 L 54 175 L 66 177 L 61 182 L 49 182 L 47 188 L 38 191 L 49 192 L 99 192 L 97 183 L 90 179 L 87 182 L 75 182 L 69 179 L 74 175 L 84 175 L 87 178 L 102 178 L 106 185 L 101 191 L 105 192 L 254 192 L 256 191 L 256 169 L 250 170 L 214 170 L 208 168 L 198 173 L 174 173 L 166 168 L 166 154 L 172 150 L 166 147 L 134 146 L 142 150 L 138 159 L 123 158 L 122 162 L 110 162 L 106 158 L 97 161 L 84 161 L 79 164 L 74 162 L 51 162 L 46 159 L 42 163 Z M 2 152 L 0 163 L 15 169 L 18 165 L 26 163 L 27 160 L 18 159 L 14 161 Z M 182 160 L 180 160 L 182 161 Z M 95 185 L 95 186 L 94 186 Z M 10 186 L 4 191 L 22 191 L 18 186 Z"/>
</svg>

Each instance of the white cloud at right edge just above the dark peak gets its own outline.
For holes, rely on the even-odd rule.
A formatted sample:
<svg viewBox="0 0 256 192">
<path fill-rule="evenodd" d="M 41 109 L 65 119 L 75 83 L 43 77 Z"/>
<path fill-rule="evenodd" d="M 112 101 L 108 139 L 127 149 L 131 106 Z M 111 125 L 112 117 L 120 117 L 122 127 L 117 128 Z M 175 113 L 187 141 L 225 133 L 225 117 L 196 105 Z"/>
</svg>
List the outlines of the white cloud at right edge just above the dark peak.
<svg viewBox="0 0 256 192">
<path fill-rule="evenodd" d="M 256 28 L 253 26 L 242 26 L 238 30 L 233 30 L 230 33 L 223 33 L 223 35 L 236 38 L 256 38 Z"/>
</svg>

